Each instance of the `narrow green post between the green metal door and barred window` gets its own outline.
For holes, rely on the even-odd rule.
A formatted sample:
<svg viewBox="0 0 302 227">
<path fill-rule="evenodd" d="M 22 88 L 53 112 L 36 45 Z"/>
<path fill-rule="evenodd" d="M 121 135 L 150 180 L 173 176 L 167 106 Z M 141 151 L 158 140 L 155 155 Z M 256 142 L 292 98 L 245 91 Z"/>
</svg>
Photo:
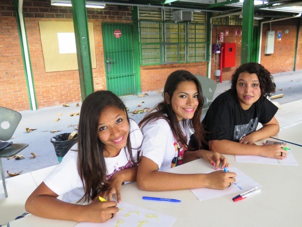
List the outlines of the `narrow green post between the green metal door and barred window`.
<svg viewBox="0 0 302 227">
<path fill-rule="evenodd" d="M 135 78 L 135 92 L 141 93 L 140 84 L 140 61 L 139 61 L 139 34 L 138 34 L 138 7 L 132 8 L 132 22 L 133 22 L 133 66 Z"/>
</svg>

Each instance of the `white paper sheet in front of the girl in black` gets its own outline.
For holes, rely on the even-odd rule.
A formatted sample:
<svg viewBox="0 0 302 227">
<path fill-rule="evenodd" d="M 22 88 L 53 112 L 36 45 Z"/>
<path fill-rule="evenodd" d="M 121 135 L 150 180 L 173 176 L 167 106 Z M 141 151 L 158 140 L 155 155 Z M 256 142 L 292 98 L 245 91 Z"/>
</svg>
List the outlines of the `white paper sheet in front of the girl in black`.
<svg viewBox="0 0 302 227">
<path fill-rule="evenodd" d="M 261 164 L 276 164 L 276 165 L 299 165 L 290 152 L 287 150 L 287 157 L 283 160 L 266 158 L 256 155 L 235 155 L 238 163 L 261 163 Z"/>
</svg>

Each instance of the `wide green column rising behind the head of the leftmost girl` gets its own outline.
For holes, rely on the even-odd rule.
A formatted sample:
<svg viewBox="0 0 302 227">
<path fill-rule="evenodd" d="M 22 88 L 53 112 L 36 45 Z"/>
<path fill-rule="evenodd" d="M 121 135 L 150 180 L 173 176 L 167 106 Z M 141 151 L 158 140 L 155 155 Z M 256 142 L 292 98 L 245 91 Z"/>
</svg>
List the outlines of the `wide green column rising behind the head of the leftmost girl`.
<svg viewBox="0 0 302 227">
<path fill-rule="evenodd" d="M 82 101 L 94 92 L 86 0 L 71 0 L 76 36 L 76 56 Z"/>
</svg>

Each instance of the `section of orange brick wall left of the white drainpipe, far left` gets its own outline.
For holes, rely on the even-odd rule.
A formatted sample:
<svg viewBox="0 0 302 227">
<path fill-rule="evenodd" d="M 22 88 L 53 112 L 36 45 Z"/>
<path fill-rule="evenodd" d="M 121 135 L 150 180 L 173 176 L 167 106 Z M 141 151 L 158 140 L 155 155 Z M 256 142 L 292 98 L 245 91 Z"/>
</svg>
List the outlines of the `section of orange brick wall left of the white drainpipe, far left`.
<svg viewBox="0 0 302 227">
<path fill-rule="evenodd" d="M 0 105 L 30 109 L 16 18 L 0 17 Z"/>
</svg>

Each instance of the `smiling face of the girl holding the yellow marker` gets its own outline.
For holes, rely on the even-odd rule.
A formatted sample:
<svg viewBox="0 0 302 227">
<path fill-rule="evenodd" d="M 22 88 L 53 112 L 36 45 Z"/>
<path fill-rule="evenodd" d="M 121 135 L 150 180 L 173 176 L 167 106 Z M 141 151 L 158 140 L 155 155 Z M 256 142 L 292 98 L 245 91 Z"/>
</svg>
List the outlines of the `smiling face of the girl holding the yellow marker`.
<svg viewBox="0 0 302 227">
<path fill-rule="evenodd" d="M 105 157 L 115 157 L 126 146 L 129 135 L 129 123 L 123 109 L 106 107 L 98 120 L 98 139 L 105 144 Z"/>
</svg>

